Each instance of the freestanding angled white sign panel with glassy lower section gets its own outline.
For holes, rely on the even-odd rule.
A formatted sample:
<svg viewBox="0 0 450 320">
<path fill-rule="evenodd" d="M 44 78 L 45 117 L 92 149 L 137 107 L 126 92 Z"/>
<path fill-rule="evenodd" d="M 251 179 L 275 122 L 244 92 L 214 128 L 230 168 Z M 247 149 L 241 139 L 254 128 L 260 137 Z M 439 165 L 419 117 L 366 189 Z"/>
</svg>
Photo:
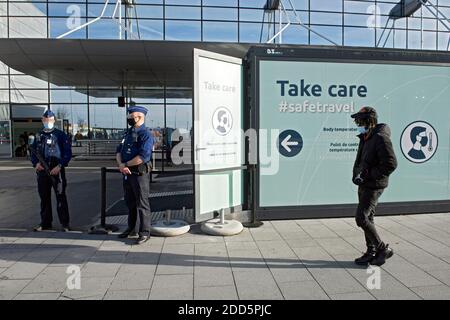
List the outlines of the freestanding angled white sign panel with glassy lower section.
<svg viewBox="0 0 450 320">
<path fill-rule="evenodd" d="M 196 219 L 242 204 L 242 61 L 194 50 Z M 211 170 L 213 170 L 211 172 Z M 199 218 L 202 216 L 201 218 Z"/>
</svg>

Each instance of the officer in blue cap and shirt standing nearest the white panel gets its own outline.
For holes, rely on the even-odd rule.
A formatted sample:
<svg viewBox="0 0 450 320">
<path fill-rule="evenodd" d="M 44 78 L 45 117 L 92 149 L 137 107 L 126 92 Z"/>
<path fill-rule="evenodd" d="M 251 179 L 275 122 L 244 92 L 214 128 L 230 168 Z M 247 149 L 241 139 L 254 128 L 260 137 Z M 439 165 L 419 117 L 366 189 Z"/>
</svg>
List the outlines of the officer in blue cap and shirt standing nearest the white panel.
<svg viewBox="0 0 450 320">
<path fill-rule="evenodd" d="M 117 147 L 117 165 L 123 175 L 124 198 L 128 207 L 128 228 L 119 235 L 126 238 L 135 235 L 139 216 L 137 244 L 150 238 L 150 158 L 153 137 L 145 127 L 147 109 L 140 106 L 128 108 L 127 130 L 122 143 Z"/>
</svg>

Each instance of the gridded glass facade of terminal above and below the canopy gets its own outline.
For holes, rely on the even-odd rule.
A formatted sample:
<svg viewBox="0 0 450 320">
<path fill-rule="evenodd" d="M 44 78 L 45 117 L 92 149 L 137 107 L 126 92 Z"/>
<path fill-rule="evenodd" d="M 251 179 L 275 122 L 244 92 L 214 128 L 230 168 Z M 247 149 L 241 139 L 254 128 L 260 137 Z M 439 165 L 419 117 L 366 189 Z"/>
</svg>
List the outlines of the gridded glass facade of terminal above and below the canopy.
<svg viewBox="0 0 450 320">
<path fill-rule="evenodd" d="M 291 0 L 302 23 L 338 45 L 375 47 L 388 14 L 397 0 Z M 266 0 L 127 0 L 116 1 L 5 1 L 0 0 L 0 38 L 141 39 L 261 43 L 279 28 L 278 12 L 264 10 Z M 299 25 L 289 0 L 282 1 L 292 25 L 282 36 L 284 44 L 330 44 Z M 434 14 L 450 17 L 450 0 L 432 0 Z M 105 8 L 105 10 L 104 10 Z M 439 8 L 439 12 L 436 10 Z M 89 26 L 77 29 L 99 17 Z M 119 11 L 128 28 L 119 30 Z M 283 17 L 286 23 L 287 17 Z M 278 40 L 277 40 L 278 41 Z M 421 8 L 393 25 L 387 48 L 448 50 L 449 31 L 432 12 Z M 170 88 L 136 87 L 131 100 L 147 106 L 147 125 L 190 131 L 192 100 L 171 94 Z M 178 92 L 177 92 L 178 93 Z M 39 126 L 42 110 L 50 107 L 65 130 L 86 140 L 119 139 L 126 127 L 125 109 L 117 105 L 121 88 L 58 87 L 17 72 L 0 62 L 0 123 L 10 121 L 13 155 L 23 132 Z M 3 135 L 3 138 L 1 138 Z M 7 140 L 0 132 L 0 141 Z M 23 142 L 23 141 L 22 141 Z M 19 150 L 20 151 L 20 150 Z"/>
</svg>

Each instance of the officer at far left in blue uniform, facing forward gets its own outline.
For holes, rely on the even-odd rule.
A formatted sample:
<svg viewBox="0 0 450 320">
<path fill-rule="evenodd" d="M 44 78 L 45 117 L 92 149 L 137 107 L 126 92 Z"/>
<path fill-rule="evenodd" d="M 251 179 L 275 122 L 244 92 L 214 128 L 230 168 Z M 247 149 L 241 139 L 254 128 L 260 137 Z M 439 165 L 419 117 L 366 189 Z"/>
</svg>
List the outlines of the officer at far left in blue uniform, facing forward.
<svg viewBox="0 0 450 320">
<path fill-rule="evenodd" d="M 45 111 L 42 116 L 44 129 L 36 135 L 31 148 L 31 162 L 36 169 L 38 192 L 41 198 L 41 223 L 34 231 L 43 231 L 52 228 L 52 189 L 56 194 L 57 212 L 62 231 L 69 231 L 69 206 L 66 197 L 65 167 L 72 158 L 72 147 L 67 135 L 56 129 L 55 114 L 51 110 Z M 39 154 L 42 161 L 39 161 Z M 48 167 L 49 171 L 45 170 Z"/>
</svg>

